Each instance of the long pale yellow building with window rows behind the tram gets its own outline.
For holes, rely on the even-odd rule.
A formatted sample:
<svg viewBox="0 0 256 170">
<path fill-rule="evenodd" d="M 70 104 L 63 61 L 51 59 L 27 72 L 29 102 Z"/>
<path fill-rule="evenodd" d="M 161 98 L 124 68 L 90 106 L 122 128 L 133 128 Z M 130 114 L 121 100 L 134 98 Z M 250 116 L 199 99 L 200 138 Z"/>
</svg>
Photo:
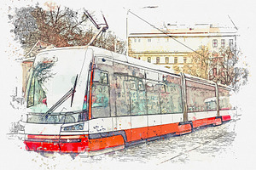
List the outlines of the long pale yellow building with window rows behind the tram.
<svg viewBox="0 0 256 170">
<path fill-rule="evenodd" d="M 234 28 L 195 24 L 168 25 L 161 31 L 136 32 L 128 37 L 128 55 L 167 68 L 190 64 L 189 54 L 206 46 L 211 54 L 220 48 L 236 46 Z"/>
</svg>

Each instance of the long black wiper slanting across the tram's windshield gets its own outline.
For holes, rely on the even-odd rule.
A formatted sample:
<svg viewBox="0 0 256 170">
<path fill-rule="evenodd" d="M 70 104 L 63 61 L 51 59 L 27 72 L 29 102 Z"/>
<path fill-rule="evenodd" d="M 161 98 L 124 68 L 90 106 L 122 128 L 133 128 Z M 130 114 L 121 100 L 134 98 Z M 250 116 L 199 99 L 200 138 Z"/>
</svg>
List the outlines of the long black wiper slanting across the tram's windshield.
<svg viewBox="0 0 256 170">
<path fill-rule="evenodd" d="M 63 97 L 61 97 L 61 99 L 59 99 L 55 105 L 52 105 L 48 111 L 46 111 L 44 113 L 44 115 L 42 116 L 42 118 L 44 118 L 45 116 L 48 116 L 49 114 L 51 114 L 53 111 L 55 111 L 55 109 L 57 109 L 62 103 L 64 103 L 70 96 L 72 96 L 72 99 L 71 99 L 71 107 L 72 107 L 72 104 L 73 104 L 73 96 L 74 96 L 74 93 L 76 92 L 76 86 L 77 86 L 77 82 L 78 82 L 78 76 L 76 77 L 76 80 L 73 84 L 73 88 L 71 88 L 67 94 L 65 94 Z"/>
</svg>

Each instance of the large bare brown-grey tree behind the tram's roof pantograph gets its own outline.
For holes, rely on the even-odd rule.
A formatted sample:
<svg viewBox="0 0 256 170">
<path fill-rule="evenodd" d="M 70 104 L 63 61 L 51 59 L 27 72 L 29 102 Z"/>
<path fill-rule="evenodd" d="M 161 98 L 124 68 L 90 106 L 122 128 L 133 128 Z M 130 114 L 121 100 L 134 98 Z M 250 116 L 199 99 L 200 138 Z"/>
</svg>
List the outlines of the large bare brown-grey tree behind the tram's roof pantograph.
<svg viewBox="0 0 256 170">
<path fill-rule="evenodd" d="M 15 15 L 9 15 L 9 20 L 15 26 L 12 30 L 15 39 L 27 50 L 38 40 L 55 47 L 83 46 L 96 33 L 86 24 L 88 19 L 85 15 L 67 7 L 55 6 L 44 10 L 37 4 L 35 7 L 16 8 Z M 122 54 L 125 51 L 125 42 L 118 40 L 111 31 L 106 32 L 92 45 Z"/>
</svg>

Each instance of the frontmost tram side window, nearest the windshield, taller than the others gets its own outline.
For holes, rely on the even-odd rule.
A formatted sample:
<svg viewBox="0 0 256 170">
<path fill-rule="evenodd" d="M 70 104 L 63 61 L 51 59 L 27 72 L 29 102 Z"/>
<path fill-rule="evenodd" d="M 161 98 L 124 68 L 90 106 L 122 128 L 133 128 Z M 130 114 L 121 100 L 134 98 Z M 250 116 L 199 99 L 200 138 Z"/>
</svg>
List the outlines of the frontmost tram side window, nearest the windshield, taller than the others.
<svg viewBox="0 0 256 170">
<path fill-rule="evenodd" d="M 92 85 L 92 117 L 110 116 L 108 73 L 96 70 Z"/>
</svg>

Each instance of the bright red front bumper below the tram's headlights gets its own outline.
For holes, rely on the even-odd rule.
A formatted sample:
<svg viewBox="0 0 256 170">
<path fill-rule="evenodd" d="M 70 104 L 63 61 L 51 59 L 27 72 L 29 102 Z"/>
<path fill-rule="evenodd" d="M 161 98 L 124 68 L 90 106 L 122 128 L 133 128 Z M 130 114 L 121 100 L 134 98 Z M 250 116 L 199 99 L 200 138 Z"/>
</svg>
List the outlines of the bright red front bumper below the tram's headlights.
<svg viewBox="0 0 256 170">
<path fill-rule="evenodd" d="M 26 150 L 62 153 L 82 153 L 88 150 L 87 135 L 32 135 L 24 140 Z"/>
</svg>

